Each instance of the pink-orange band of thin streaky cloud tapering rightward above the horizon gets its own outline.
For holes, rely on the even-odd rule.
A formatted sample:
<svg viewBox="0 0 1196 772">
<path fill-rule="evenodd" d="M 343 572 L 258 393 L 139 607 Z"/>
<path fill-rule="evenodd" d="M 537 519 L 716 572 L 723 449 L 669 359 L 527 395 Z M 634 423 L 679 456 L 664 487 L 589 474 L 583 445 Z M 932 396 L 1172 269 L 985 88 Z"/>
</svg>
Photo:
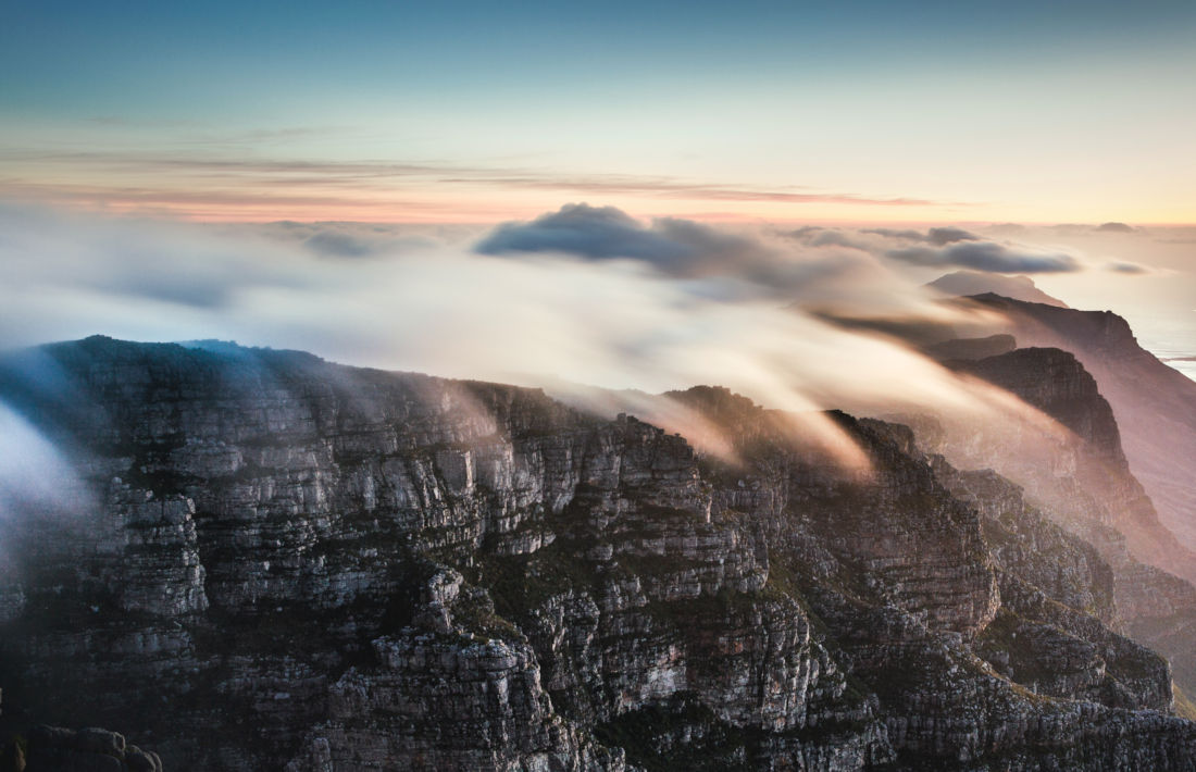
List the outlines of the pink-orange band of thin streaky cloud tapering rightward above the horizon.
<svg viewBox="0 0 1196 772">
<path fill-rule="evenodd" d="M 409 164 L 390 160 L 312 162 L 128 151 L 2 154 L 8 168 L 0 197 L 116 211 L 160 208 L 197 219 L 410 219 L 409 211 L 451 207 L 462 196 L 499 205 L 504 192 L 566 193 L 739 203 L 917 208 L 966 206 L 909 196 L 869 196 L 709 183 L 673 177 L 592 175 L 502 166 Z M 509 206 L 509 205 L 508 205 Z M 319 213 L 323 209 L 323 213 Z M 457 203 L 460 213 L 460 205 Z M 509 208 L 508 208 L 509 212 Z M 361 217 L 360 214 L 349 215 Z"/>
</svg>

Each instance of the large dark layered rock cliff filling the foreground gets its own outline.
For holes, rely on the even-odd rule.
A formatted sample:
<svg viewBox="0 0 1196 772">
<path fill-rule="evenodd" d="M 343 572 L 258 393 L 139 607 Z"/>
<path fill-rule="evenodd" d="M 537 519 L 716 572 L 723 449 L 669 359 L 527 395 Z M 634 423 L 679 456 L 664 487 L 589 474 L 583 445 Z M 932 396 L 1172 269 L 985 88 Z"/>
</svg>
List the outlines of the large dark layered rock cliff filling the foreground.
<svg viewBox="0 0 1196 772">
<path fill-rule="evenodd" d="M 0 396 L 96 502 L 5 519 L 10 723 L 102 723 L 170 770 L 1196 752 L 1100 557 L 901 426 L 832 415 L 869 464 L 844 469 L 673 395 L 732 463 L 537 390 L 108 339 L 10 357 Z"/>
</svg>

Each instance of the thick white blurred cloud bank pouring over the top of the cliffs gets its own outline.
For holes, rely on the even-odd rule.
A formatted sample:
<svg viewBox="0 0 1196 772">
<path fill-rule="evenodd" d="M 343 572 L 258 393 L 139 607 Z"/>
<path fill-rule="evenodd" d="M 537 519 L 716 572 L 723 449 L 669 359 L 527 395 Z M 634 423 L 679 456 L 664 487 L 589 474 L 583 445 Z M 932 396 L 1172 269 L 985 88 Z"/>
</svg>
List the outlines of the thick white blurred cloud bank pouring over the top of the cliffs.
<svg viewBox="0 0 1196 772">
<path fill-rule="evenodd" d="M 0 225 L 6 348 L 92 334 L 220 339 L 570 399 L 582 387 L 714 384 L 805 414 L 1011 409 L 896 340 L 824 321 L 959 321 L 965 311 L 936 302 L 886 254 L 911 233 L 982 243 L 964 231 L 945 241 L 935 230 L 724 230 L 584 205 L 493 231 L 219 226 L 29 207 L 0 207 Z M 676 431 L 687 424 L 669 419 L 676 411 L 653 414 Z M 830 421 L 808 424 L 842 444 Z"/>
</svg>

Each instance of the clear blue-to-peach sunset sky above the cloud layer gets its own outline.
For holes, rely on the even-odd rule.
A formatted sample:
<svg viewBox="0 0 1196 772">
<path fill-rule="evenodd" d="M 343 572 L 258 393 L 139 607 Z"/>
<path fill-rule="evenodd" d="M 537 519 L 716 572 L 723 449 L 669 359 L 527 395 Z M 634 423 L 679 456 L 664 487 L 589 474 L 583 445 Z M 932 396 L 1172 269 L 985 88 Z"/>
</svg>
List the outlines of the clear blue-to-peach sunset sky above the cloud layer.
<svg viewBox="0 0 1196 772">
<path fill-rule="evenodd" d="M 1196 4 L 0 0 L 0 197 L 1196 223 Z"/>
</svg>

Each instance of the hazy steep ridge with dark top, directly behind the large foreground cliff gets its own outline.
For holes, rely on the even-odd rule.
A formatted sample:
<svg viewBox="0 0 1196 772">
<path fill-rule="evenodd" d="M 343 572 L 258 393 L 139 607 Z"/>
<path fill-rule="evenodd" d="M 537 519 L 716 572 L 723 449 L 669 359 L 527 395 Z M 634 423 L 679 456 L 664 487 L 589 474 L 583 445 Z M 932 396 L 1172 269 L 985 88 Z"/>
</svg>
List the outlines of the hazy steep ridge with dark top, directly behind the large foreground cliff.
<svg viewBox="0 0 1196 772">
<path fill-rule="evenodd" d="M 1109 324 L 1122 329 L 1116 322 Z M 1119 339 L 1122 333 L 1112 336 Z M 1027 446 L 1041 438 L 1011 445 L 983 427 L 926 431 L 922 438 L 936 438 L 929 445 L 957 462 L 995 467 L 1017 479 L 1051 518 L 1094 545 L 1113 570 L 1124 630 L 1165 654 L 1177 681 L 1196 688 L 1196 652 L 1190 644 L 1196 631 L 1191 584 L 1196 555 L 1163 525 L 1130 472 L 1113 411 L 1092 375 L 1057 348 L 1019 348 L 951 364 L 1018 395 L 1074 437 L 1052 440 L 1049 460 Z"/>
</svg>

